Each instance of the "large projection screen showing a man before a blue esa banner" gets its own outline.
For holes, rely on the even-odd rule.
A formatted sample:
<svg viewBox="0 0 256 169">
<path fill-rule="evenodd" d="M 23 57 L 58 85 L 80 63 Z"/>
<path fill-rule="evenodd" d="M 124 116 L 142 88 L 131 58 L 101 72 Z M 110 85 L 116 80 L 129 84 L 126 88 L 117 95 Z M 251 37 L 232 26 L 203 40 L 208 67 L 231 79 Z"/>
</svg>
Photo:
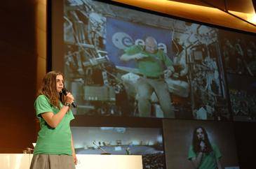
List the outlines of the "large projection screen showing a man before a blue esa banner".
<svg viewBox="0 0 256 169">
<path fill-rule="evenodd" d="M 255 57 L 243 70 L 229 61 L 224 44 L 234 36 L 222 29 L 114 2 L 51 7 L 52 69 L 65 73 L 75 115 L 229 120 L 225 68 L 254 76 Z M 255 50 L 255 36 L 247 38 Z"/>
</svg>

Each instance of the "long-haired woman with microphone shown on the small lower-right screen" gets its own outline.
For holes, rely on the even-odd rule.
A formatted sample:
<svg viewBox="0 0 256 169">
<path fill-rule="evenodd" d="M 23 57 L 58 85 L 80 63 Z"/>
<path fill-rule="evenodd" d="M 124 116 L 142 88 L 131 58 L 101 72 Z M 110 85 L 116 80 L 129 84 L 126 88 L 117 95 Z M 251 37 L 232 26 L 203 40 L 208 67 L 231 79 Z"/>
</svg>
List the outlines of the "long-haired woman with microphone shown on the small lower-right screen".
<svg viewBox="0 0 256 169">
<path fill-rule="evenodd" d="M 198 126 L 194 129 L 192 145 L 189 147 L 188 159 L 195 168 L 221 169 L 220 149 L 210 143 L 206 129 Z"/>
</svg>

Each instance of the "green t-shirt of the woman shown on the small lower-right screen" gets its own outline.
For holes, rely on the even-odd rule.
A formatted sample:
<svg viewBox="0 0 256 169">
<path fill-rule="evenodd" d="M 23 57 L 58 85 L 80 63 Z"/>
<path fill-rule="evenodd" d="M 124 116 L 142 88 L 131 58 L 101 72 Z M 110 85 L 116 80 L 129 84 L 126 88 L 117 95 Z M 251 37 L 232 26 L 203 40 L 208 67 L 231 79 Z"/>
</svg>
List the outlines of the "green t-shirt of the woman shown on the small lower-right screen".
<svg viewBox="0 0 256 169">
<path fill-rule="evenodd" d="M 220 154 L 220 149 L 216 145 L 212 145 L 213 152 L 208 154 L 204 153 L 201 159 L 199 169 L 216 169 L 217 168 L 217 159 L 222 157 Z M 192 158 L 196 157 L 197 154 L 193 150 L 193 146 L 189 148 L 189 157 L 188 159 L 191 160 Z"/>
</svg>

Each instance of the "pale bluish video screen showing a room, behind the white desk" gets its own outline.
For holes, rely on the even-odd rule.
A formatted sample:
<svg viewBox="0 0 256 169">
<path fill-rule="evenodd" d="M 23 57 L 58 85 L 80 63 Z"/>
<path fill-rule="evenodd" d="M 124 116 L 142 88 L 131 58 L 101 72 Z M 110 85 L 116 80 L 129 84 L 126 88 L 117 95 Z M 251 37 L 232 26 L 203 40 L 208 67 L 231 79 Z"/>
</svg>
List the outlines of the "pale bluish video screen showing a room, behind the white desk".
<svg viewBox="0 0 256 169">
<path fill-rule="evenodd" d="M 72 127 L 76 154 L 142 155 L 143 168 L 165 168 L 161 128 Z"/>
</svg>

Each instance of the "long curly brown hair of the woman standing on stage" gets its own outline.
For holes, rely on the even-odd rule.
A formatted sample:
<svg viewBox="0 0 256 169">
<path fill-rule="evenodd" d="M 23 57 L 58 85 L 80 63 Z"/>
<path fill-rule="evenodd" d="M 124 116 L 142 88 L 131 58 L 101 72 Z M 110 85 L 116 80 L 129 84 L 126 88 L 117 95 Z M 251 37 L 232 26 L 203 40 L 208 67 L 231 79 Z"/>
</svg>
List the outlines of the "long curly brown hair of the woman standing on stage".
<svg viewBox="0 0 256 169">
<path fill-rule="evenodd" d="M 49 98 L 50 104 L 60 109 L 60 101 L 64 103 L 64 94 L 59 94 L 56 87 L 56 77 L 62 75 L 60 71 L 50 71 L 43 77 L 43 82 L 38 91 L 38 96 L 43 94 Z"/>
</svg>

